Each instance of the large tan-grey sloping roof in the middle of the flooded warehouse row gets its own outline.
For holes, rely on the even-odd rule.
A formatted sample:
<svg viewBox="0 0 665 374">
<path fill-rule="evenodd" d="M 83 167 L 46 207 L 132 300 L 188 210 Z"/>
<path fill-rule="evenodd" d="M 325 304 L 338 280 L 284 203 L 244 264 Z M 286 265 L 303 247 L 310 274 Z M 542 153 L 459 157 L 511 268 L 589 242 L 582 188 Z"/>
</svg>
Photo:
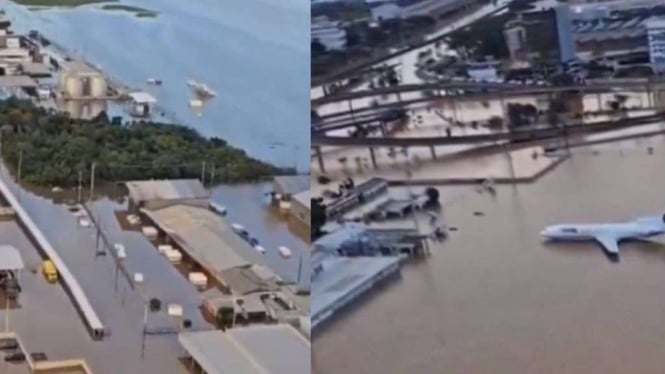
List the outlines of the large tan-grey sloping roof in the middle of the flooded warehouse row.
<svg viewBox="0 0 665 374">
<path fill-rule="evenodd" d="M 174 205 L 143 212 L 192 258 L 220 278 L 227 269 L 265 265 L 262 254 L 240 238 L 223 217 L 208 209 Z"/>
</svg>

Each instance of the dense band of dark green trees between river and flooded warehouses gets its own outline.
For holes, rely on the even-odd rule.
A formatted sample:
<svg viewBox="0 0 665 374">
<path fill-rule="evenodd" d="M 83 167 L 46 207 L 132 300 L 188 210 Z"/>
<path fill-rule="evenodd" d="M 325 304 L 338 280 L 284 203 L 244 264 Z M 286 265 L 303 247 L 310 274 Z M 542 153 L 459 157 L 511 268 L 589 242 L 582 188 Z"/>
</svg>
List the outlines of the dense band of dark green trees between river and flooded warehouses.
<svg viewBox="0 0 665 374">
<path fill-rule="evenodd" d="M 79 172 L 100 183 L 132 179 L 197 178 L 214 165 L 213 182 L 256 181 L 290 173 L 253 159 L 219 138 L 207 139 L 188 127 L 137 122 L 123 125 L 106 114 L 92 120 L 48 112 L 29 101 L 0 101 L 2 157 L 21 180 L 38 187 L 73 187 Z M 22 158 L 21 155 L 22 154 Z M 208 177 L 210 180 L 212 177 Z"/>
</svg>

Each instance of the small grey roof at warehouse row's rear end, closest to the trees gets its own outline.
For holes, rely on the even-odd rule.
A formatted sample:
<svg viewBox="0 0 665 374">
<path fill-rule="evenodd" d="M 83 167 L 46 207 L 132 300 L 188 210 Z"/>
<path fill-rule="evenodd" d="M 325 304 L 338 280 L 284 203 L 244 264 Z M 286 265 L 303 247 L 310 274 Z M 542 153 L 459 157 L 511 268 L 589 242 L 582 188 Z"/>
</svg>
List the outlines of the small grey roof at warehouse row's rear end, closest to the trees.
<svg viewBox="0 0 665 374">
<path fill-rule="evenodd" d="M 198 179 L 129 181 L 125 183 L 134 201 L 207 199 L 210 193 Z"/>
</svg>

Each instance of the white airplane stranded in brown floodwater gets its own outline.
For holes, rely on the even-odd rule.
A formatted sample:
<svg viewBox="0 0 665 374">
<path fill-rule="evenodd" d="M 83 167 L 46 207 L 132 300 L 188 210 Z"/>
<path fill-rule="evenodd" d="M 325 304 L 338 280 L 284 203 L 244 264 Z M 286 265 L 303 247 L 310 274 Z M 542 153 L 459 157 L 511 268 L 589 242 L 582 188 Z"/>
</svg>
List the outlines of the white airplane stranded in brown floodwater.
<svg viewBox="0 0 665 374">
<path fill-rule="evenodd" d="M 595 240 L 611 256 L 619 255 L 619 242 L 622 240 L 646 240 L 663 234 L 665 215 L 641 217 L 623 223 L 554 225 L 540 232 L 550 240 Z"/>
</svg>

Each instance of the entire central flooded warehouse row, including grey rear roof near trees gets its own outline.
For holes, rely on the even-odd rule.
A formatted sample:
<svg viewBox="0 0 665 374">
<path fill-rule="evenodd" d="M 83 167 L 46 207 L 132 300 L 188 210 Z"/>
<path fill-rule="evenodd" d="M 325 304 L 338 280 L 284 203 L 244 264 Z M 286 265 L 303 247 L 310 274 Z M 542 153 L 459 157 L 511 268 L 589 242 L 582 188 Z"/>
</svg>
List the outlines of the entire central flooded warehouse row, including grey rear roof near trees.
<svg viewBox="0 0 665 374">
<path fill-rule="evenodd" d="M 293 322 L 308 313 L 295 285 L 269 267 L 265 255 L 209 209 L 198 180 L 127 182 L 130 209 L 150 221 L 169 245 L 200 266 L 219 292 L 206 291 L 214 316 L 232 307 L 246 321 Z M 215 309 L 217 306 L 217 309 Z"/>
</svg>

